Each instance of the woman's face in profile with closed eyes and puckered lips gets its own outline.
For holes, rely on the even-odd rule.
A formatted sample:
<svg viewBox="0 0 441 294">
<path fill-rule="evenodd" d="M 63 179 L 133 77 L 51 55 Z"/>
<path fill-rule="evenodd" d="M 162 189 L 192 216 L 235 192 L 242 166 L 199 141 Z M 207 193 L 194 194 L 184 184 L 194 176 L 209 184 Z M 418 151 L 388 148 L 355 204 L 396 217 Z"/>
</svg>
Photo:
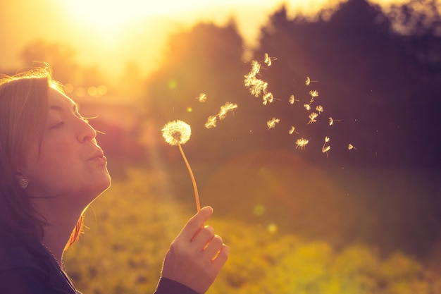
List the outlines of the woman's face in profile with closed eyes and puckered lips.
<svg viewBox="0 0 441 294">
<path fill-rule="evenodd" d="M 48 98 L 41 145 L 33 142 L 25 156 L 26 190 L 32 197 L 60 199 L 73 211 L 82 210 L 111 183 L 106 157 L 76 104 L 52 88 Z"/>
</svg>

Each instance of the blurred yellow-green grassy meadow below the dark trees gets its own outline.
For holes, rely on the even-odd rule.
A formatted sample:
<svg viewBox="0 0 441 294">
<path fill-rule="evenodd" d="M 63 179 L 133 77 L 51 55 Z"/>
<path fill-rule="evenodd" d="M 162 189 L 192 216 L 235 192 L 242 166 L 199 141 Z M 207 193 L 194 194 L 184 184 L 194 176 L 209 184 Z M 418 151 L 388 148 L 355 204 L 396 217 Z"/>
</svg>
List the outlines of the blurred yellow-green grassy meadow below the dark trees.
<svg viewBox="0 0 441 294">
<path fill-rule="evenodd" d="M 201 205 L 214 209 L 209 224 L 230 247 L 209 294 L 441 293 L 440 253 L 424 228 L 430 203 L 412 202 L 440 195 L 439 174 L 318 169 L 268 151 L 192 167 Z M 110 169 L 112 187 L 87 211 L 66 270 L 85 294 L 153 293 L 168 245 L 196 211 L 190 176 L 180 160 Z"/>
</svg>

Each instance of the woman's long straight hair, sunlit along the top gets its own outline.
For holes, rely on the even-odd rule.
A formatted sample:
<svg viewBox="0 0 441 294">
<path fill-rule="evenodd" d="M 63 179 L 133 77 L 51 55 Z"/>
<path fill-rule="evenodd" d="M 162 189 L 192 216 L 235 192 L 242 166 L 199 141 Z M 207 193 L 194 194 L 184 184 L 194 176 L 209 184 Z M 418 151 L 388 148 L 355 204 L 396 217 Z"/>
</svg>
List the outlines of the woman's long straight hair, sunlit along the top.
<svg viewBox="0 0 441 294">
<path fill-rule="evenodd" d="M 39 68 L 0 77 L 0 242 L 41 241 L 44 217 L 35 211 L 29 196 L 15 177 L 33 140 L 42 140 L 48 113 L 48 92 L 63 87 L 52 79 L 51 68 Z M 77 222 L 66 247 L 79 238 L 82 219 Z"/>
</svg>

